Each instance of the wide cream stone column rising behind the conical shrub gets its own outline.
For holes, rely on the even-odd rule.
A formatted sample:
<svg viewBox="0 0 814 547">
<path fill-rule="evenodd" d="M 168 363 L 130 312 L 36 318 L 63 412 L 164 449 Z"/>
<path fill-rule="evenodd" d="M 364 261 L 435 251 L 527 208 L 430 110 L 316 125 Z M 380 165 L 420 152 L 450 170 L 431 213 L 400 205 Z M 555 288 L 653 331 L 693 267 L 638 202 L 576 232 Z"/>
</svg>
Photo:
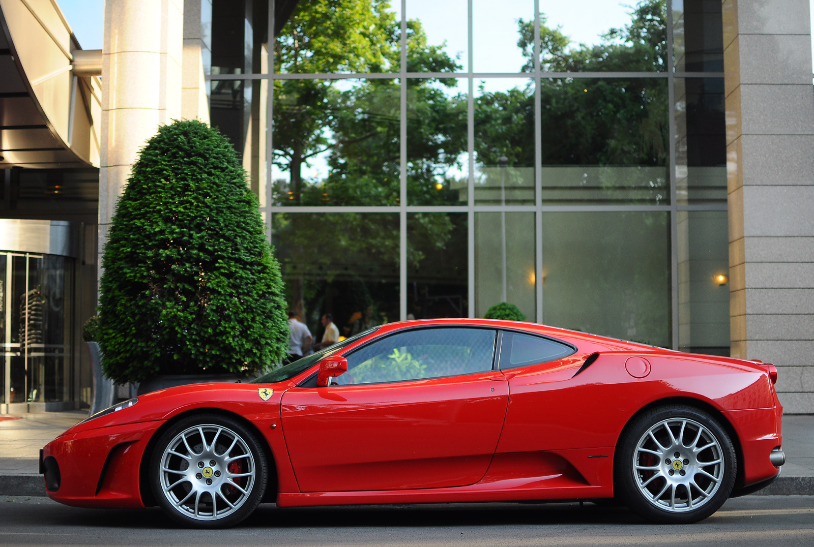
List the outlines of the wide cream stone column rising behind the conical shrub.
<svg viewBox="0 0 814 547">
<path fill-rule="evenodd" d="M 180 118 L 183 0 L 107 0 L 102 61 L 98 260 L 138 150 Z"/>
</svg>

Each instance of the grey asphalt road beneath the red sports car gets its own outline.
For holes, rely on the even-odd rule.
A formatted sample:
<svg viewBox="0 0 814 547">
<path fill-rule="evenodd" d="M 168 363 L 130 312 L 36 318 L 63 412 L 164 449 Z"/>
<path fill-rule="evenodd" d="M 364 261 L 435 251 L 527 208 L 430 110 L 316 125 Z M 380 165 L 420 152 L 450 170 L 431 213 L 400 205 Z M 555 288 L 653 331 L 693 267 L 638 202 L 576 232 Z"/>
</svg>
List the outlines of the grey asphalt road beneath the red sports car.
<svg viewBox="0 0 814 547">
<path fill-rule="evenodd" d="M 85 510 L 0 497 L 0 545 L 814 545 L 814 497 L 748 496 L 698 524 L 659 526 L 585 503 L 260 509 L 230 530 L 180 529 L 160 510 Z"/>
</svg>

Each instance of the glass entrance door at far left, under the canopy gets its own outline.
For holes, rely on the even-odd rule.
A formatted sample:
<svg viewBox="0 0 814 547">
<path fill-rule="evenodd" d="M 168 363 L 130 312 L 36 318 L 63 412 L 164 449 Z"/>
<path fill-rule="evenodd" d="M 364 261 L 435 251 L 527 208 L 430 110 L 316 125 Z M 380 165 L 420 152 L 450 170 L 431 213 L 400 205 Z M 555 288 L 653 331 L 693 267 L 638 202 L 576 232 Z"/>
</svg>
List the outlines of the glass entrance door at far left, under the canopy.
<svg viewBox="0 0 814 547">
<path fill-rule="evenodd" d="M 4 403 L 72 400 L 72 259 L 0 253 Z"/>
</svg>

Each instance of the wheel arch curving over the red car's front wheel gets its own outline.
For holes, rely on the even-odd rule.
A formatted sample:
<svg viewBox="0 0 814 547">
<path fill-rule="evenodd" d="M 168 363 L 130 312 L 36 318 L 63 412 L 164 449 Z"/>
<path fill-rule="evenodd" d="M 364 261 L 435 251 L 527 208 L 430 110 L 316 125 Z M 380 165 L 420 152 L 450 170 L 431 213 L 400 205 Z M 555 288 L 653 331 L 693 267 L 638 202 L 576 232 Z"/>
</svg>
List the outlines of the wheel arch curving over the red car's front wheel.
<svg viewBox="0 0 814 547">
<path fill-rule="evenodd" d="M 274 458 L 274 452 L 269 445 L 269 441 L 266 440 L 265 436 L 257 429 L 256 425 L 243 418 L 240 414 L 235 414 L 234 412 L 230 412 L 229 410 L 219 409 L 217 407 L 201 407 L 196 409 L 186 410 L 184 412 L 178 413 L 172 418 L 169 418 L 166 422 L 164 422 L 161 427 L 156 429 L 150 437 L 150 440 L 147 441 L 147 447 L 144 449 L 144 453 L 142 453 L 142 461 L 139 464 L 138 468 L 138 490 L 139 495 L 142 498 L 142 503 L 145 507 L 151 507 L 157 505 L 155 503 L 155 498 L 152 495 L 152 488 L 150 487 L 150 469 L 149 464 L 152 457 L 153 450 L 155 449 L 155 443 L 161 438 L 161 435 L 164 435 L 164 431 L 167 431 L 173 424 L 179 422 L 184 418 L 190 418 L 190 416 L 195 416 L 195 414 L 221 414 L 221 416 L 225 416 L 227 418 L 234 419 L 243 424 L 243 426 L 247 427 L 250 431 L 254 431 L 257 437 L 260 439 L 260 446 L 262 447 L 266 459 L 269 461 L 269 484 L 266 486 L 265 494 L 263 495 L 262 501 L 260 503 L 265 503 L 267 501 L 276 501 L 277 497 L 277 490 L 278 490 L 278 476 L 277 476 L 277 461 Z"/>
</svg>

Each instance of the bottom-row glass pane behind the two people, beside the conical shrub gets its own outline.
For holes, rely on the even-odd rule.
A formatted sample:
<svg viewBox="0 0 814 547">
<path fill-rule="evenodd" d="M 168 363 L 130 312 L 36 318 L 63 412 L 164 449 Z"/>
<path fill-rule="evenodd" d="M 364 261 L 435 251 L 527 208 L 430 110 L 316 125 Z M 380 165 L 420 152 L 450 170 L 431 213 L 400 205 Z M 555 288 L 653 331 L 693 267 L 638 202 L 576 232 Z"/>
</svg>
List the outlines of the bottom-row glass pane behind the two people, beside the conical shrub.
<svg viewBox="0 0 814 547">
<path fill-rule="evenodd" d="M 315 340 L 320 319 L 334 317 L 340 336 L 360 320 L 399 318 L 399 217 L 372 213 L 278 213 L 272 242 L 293 309 Z M 372 306 L 372 310 L 370 307 Z"/>
</svg>

